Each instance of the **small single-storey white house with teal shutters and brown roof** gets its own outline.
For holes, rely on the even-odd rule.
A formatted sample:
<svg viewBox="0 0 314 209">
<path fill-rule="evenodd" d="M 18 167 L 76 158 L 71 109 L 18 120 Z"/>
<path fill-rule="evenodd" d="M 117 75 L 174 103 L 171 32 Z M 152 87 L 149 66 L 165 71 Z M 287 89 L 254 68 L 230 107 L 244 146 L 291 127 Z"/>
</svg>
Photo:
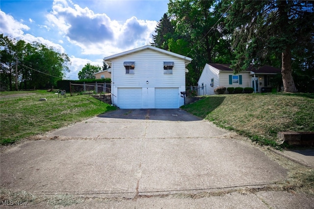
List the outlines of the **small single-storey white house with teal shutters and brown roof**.
<svg viewBox="0 0 314 209">
<path fill-rule="evenodd" d="M 234 75 L 230 64 L 206 64 L 198 80 L 198 95 L 212 95 L 218 86 L 252 87 L 255 92 L 267 92 L 271 90 L 272 78 L 279 73 L 281 69 L 265 65 L 258 69 L 250 66 Z"/>
</svg>

